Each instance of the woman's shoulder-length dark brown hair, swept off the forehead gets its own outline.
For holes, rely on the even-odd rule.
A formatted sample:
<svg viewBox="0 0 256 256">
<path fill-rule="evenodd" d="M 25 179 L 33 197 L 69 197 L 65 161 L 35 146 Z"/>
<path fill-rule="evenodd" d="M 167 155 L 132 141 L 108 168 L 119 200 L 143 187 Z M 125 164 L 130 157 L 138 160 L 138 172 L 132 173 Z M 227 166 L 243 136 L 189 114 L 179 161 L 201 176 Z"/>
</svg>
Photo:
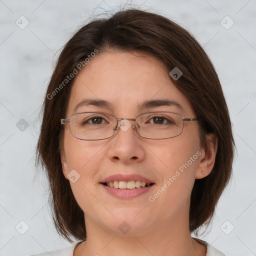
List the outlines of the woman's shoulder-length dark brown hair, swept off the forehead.
<svg viewBox="0 0 256 256">
<path fill-rule="evenodd" d="M 201 144 L 207 149 L 206 133 L 214 133 L 218 139 L 213 169 L 208 176 L 195 180 L 189 210 L 191 232 L 204 223 L 209 224 L 230 179 L 234 152 L 231 123 L 218 76 L 202 47 L 187 30 L 159 14 L 132 8 L 82 26 L 63 47 L 48 84 L 37 160 L 47 173 L 50 205 L 58 233 L 69 241 L 72 236 L 78 240 L 86 238 L 84 213 L 62 173 L 60 160 L 60 118 L 65 117 L 73 80 L 61 86 L 54 96 L 49 95 L 53 95 L 66 75 L 95 49 L 99 53 L 108 49 L 147 52 L 160 59 L 167 70 L 178 67 L 182 71 L 179 79 L 170 79 L 187 96 L 197 117 L 201 118 Z"/>
</svg>

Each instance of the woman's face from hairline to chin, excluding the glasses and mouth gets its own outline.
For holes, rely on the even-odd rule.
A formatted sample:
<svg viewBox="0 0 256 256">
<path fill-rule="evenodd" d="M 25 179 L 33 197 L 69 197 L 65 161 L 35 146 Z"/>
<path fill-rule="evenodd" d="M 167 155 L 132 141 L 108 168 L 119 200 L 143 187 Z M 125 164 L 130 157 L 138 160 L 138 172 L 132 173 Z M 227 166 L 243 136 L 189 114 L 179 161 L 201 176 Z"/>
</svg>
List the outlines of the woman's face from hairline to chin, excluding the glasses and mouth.
<svg viewBox="0 0 256 256">
<path fill-rule="evenodd" d="M 197 117 L 168 71 L 158 59 L 146 53 L 99 53 L 76 75 L 65 117 L 86 111 L 111 113 L 117 118 L 135 118 L 149 111 Z M 112 108 L 83 104 L 74 110 L 84 99 L 104 100 Z M 182 109 L 175 104 L 137 108 L 154 99 L 175 101 Z M 163 225 L 187 225 L 194 179 L 203 177 L 200 162 L 204 150 L 199 143 L 198 122 L 184 121 L 182 133 L 168 139 L 140 137 L 133 128 L 134 122 L 130 123 L 127 130 L 118 128 L 114 136 L 103 140 L 77 139 L 68 124 L 64 125 L 63 173 L 66 178 L 72 177 L 70 185 L 84 212 L 86 228 L 97 226 L 114 233 L 132 234 Z M 102 184 L 116 174 L 123 176 L 113 180 L 141 179 L 153 185 L 122 190 Z M 140 194 L 139 189 L 143 191 Z"/>
</svg>

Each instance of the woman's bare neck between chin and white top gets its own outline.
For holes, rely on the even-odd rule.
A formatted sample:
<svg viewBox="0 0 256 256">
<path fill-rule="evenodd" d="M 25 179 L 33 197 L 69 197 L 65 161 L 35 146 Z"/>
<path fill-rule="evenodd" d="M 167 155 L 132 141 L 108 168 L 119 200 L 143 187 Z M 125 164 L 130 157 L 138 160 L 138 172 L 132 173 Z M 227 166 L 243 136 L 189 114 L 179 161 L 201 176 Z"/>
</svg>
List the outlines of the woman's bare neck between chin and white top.
<svg viewBox="0 0 256 256">
<path fill-rule="evenodd" d="M 154 225 L 139 232 L 109 231 L 85 217 L 86 241 L 80 243 L 74 256 L 131 256 L 131 255 L 200 255 L 205 256 L 204 245 L 191 238 L 188 221 L 176 216 L 174 221 L 157 220 Z"/>
</svg>

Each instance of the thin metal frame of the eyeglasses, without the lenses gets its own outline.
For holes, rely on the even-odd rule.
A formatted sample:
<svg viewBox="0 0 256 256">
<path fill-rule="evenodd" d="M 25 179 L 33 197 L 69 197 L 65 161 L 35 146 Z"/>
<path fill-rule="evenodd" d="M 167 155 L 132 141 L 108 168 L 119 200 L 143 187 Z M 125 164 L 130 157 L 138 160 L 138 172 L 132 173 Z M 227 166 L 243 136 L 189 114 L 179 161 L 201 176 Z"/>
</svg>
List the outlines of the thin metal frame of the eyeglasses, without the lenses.
<svg viewBox="0 0 256 256">
<path fill-rule="evenodd" d="M 82 113 L 100 113 L 100 114 L 107 114 L 107 115 L 111 115 L 113 116 L 115 119 L 116 119 L 116 126 L 113 127 L 113 134 L 109 137 L 106 137 L 106 138 L 97 138 L 97 139 L 84 139 L 84 138 L 78 138 L 78 137 L 75 137 L 70 129 L 70 125 L 69 125 L 69 122 L 70 122 L 70 118 L 73 116 L 73 115 L 76 115 L 76 114 L 82 114 Z M 77 138 L 77 139 L 80 139 L 80 140 L 102 140 L 102 139 L 107 139 L 107 138 L 110 138 L 112 137 L 116 131 L 117 131 L 117 126 L 118 126 L 118 121 L 120 120 L 131 120 L 131 121 L 134 121 L 134 127 L 135 127 L 135 130 L 137 132 L 137 134 L 142 137 L 142 138 L 147 138 L 147 137 L 144 137 L 144 136 L 141 136 L 138 131 L 137 131 L 137 125 L 136 125 L 136 118 L 142 114 L 149 114 L 149 113 L 173 113 L 173 114 L 178 114 L 178 113 L 175 113 L 175 112 L 170 112 L 170 111 L 152 111 L 152 112 L 145 112 L 145 113 L 141 113 L 139 115 L 137 115 L 135 118 L 126 118 L 126 117 L 122 117 L 122 118 L 117 118 L 115 115 L 113 114 L 110 114 L 110 113 L 105 113 L 105 112 L 99 112 L 99 111 L 89 111 L 89 112 L 79 112 L 79 113 L 73 113 L 72 115 L 70 115 L 69 118 L 61 118 L 60 119 L 60 123 L 61 124 L 67 124 L 68 123 L 68 126 L 69 126 L 69 130 L 72 134 L 73 137 Z M 183 131 L 183 127 L 184 127 L 184 121 L 200 121 L 201 119 L 198 118 L 198 117 L 194 117 L 194 118 L 191 118 L 191 117 L 183 117 L 181 114 L 178 114 L 182 117 L 182 120 L 183 120 L 183 123 L 182 123 L 182 129 L 180 131 L 180 133 L 178 135 L 175 135 L 175 136 L 171 136 L 171 137 L 166 137 L 166 138 L 173 138 L 173 137 L 177 137 L 179 136 L 182 131 Z M 147 139 L 166 139 L 166 138 L 147 138 Z"/>
</svg>

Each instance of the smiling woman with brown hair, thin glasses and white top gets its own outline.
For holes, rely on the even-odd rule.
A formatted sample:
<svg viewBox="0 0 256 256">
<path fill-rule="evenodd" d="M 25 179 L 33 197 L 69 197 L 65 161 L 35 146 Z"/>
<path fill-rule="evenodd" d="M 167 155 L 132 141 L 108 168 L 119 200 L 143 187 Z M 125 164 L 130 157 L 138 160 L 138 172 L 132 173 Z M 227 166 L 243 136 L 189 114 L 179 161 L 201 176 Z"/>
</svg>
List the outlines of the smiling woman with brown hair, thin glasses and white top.
<svg viewBox="0 0 256 256">
<path fill-rule="evenodd" d="M 224 255 L 191 232 L 210 223 L 233 150 L 217 74 L 189 32 L 137 9 L 89 22 L 44 100 L 38 160 L 56 229 L 78 240 L 50 255 Z"/>
</svg>

